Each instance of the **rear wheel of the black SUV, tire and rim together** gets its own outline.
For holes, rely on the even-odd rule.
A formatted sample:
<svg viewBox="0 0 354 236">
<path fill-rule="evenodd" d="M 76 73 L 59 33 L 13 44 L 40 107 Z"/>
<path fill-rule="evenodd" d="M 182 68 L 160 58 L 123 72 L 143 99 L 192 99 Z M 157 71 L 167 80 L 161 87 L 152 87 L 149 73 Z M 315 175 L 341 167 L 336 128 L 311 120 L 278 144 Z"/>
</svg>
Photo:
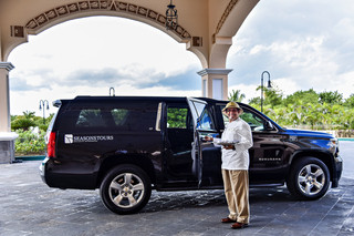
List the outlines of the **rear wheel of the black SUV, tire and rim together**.
<svg viewBox="0 0 354 236">
<path fill-rule="evenodd" d="M 125 215 L 140 211 L 152 195 L 147 174 L 135 165 L 119 165 L 104 177 L 100 195 L 103 204 L 113 213 Z"/>
</svg>

